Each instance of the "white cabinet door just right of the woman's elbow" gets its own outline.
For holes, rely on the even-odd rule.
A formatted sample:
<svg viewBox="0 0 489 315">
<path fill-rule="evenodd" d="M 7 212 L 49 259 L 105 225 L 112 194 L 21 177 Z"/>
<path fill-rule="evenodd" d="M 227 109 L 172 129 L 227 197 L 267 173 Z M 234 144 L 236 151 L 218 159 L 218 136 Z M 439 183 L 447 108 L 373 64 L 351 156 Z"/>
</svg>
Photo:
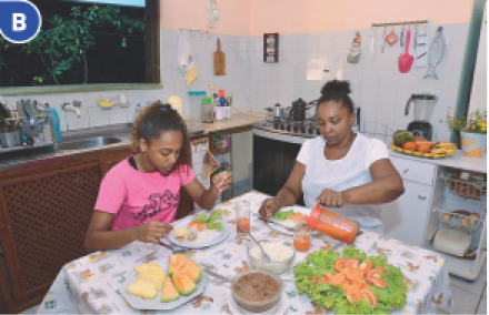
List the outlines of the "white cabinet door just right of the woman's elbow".
<svg viewBox="0 0 489 315">
<path fill-rule="evenodd" d="M 406 192 L 398 200 L 381 206 L 383 234 L 422 246 L 431 205 L 431 186 L 405 181 Z"/>
</svg>

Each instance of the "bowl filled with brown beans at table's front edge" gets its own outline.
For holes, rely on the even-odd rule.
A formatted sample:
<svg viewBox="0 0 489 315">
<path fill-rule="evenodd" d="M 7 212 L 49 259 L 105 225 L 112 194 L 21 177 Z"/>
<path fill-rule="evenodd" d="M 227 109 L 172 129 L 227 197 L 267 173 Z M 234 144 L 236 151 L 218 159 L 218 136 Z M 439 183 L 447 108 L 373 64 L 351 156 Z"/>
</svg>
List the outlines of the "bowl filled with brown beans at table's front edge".
<svg viewBox="0 0 489 315">
<path fill-rule="evenodd" d="M 244 309 L 263 312 L 273 307 L 280 299 L 282 284 L 273 274 L 249 271 L 238 274 L 234 282 L 246 288 L 242 291 L 232 285 L 232 296 Z"/>
</svg>

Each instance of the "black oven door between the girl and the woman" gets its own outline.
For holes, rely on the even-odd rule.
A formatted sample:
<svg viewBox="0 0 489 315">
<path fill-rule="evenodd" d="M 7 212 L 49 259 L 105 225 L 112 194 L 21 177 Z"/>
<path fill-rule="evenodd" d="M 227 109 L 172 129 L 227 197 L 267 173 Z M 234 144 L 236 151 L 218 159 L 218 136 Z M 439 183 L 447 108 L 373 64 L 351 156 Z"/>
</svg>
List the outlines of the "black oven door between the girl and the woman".
<svg viewBox="0 0 489 315">
<path fill-rule="evenodd" d="M 253 190 L 277 195 L 307 139 L 253 129 Z M 303 205 L 302 195 L 297 204 Z"/>
</svg>

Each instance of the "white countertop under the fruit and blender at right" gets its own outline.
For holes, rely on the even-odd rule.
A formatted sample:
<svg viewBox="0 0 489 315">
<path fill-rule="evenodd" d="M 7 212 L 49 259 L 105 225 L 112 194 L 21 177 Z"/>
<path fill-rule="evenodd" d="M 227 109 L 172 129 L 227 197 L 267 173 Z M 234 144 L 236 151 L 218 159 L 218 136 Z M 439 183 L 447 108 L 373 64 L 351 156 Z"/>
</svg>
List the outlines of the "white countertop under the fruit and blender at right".
<svg viewBox="0 0 489 315">
<path fill-rule="evenodd" d="M 419 158 L 410 154 L 402 154 L 389 148 L 390 156 L 413 160 L 417 162 L 436 164 L 440 166 L 449 166 L 460 170 L 468 170 L 475 172 L 487 173 L 487 153 L 485 153 L 481 158 L 467 158 L 463 156 L 461 150 L 458 150 L 455 155 L 441 158 L 441 159 L 427 159 Z"/>
</svg>

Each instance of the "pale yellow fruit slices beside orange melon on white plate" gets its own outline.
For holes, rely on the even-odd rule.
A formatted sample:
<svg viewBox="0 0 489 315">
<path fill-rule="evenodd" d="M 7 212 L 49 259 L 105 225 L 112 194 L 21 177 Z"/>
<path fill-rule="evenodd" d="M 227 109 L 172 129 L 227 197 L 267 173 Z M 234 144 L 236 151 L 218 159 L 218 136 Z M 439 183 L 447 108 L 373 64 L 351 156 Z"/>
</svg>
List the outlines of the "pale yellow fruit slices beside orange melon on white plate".
<svg viewBox="0 0 489 315">
<path fill-rule="evenodd" d="M 158 291 L 163 289 L 166 273 L 157 264 L 141 264 L 134 267 L 138 274 L 136 281 L 131 283 L 126 292 L 140 296 L 146 299 L 152 299 L 157 296 Z"/>
</svg>

